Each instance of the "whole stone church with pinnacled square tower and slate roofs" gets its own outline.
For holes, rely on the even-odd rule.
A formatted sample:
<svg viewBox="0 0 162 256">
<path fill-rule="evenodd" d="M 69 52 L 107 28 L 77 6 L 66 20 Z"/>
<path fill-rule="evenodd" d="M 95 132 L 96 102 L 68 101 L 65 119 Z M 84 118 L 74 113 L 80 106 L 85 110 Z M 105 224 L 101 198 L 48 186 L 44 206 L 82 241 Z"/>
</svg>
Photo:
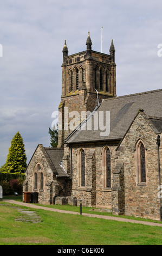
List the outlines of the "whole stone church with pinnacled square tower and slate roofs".
<svg viewBox="0 0 162 256">
<path fill-rule="evenodd" d="M 38 144 L 23 192 L 41 204 L 104 208 L 161 220 L 162 89 L 116 96 L 113 40 L 109 54 L 68 56 L 65 41 L 57 148 Z"/>
</svg>

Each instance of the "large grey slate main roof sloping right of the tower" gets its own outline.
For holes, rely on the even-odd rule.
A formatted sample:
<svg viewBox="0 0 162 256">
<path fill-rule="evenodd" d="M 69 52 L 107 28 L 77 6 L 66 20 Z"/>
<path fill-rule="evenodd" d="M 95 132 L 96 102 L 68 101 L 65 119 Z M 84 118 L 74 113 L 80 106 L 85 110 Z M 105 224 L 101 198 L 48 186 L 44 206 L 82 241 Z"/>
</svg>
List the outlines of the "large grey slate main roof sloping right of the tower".
<svg viewBox="0 0 162 256">
<path fill-rule="evenodd" d="M 139 109 L 143 109 L 155 129 L 161 132 L 162 129 L 162 89 L 150 92 L 131 94 L 106 99 L 96 112 L 110 112 L 110 133 L 108 136 L 101 136 L 101 130 L 75 130 L 66 139 L 67 143 L 99 142 L 108 140 L 120 140 L 131 125 Z M 105 115 L 104 115 L 105 116 Z M 92 121 L 93 116 L 87 120 Z"/>
</svg>

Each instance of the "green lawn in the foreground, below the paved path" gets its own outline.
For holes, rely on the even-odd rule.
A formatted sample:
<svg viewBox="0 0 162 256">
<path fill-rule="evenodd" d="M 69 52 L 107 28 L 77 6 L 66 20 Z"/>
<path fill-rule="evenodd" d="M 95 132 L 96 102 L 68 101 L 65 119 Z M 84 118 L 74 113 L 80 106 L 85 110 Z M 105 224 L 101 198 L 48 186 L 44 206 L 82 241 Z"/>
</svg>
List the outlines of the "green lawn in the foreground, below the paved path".
<svg viewBox="0 0 162 256">
<path fill-rule="evenodd" d="M 37 209 L 40 223 L 16 222 L 15 206 L 0 202 L 0 245 L 162 245 L 161 227 Z"/>
</svg>

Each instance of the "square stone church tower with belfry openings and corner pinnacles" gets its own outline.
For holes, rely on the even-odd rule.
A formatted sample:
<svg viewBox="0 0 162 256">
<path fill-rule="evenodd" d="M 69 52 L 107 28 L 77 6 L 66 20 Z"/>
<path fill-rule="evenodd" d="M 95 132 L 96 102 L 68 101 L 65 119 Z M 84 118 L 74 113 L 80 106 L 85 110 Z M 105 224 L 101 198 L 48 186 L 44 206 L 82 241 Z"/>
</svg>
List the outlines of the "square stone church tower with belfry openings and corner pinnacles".
<svg viewBox="0 0 162 256">
<path fill-rule="evenodd" d="M 87 50 L 68 56 L 66 41 L 63 46 L 62 95 L 59 105 L 58 147 L 63 147 L 64 139 L 72 132 L 69 122 L 75 112 L 92 112 L 98 103 L 116 96 L 116 64 L 113 40 L 109 54 L 92 50 L 92 40 L 88 32 Z M 74 112 L 75 111 L 75 112 Z M 70 113 L 70 115 L 69 115 Z"/>
</svg>

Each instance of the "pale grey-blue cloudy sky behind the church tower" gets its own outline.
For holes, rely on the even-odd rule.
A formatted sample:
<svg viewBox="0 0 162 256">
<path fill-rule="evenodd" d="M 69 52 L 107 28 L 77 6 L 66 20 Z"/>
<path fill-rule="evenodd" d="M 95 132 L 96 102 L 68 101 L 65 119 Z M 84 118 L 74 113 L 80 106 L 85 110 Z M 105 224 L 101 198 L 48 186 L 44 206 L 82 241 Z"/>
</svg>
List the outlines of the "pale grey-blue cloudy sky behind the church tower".
<svg viewBox="0 0 162 256">
<path fill-rule="evenodd" d="M 61 101 L 64 40 L 69 55 L 85 51 L 89 31 L 92 50 L 101 52 L 103 27 L 103 53 L 109 54 L 114 41 L 117 96 L 161 89 L 159 0 L 0 3 L 0 167 L 17 131 L 27 162 L 39 143 L 50 147 L 51 114 Z"/>
</svg>

